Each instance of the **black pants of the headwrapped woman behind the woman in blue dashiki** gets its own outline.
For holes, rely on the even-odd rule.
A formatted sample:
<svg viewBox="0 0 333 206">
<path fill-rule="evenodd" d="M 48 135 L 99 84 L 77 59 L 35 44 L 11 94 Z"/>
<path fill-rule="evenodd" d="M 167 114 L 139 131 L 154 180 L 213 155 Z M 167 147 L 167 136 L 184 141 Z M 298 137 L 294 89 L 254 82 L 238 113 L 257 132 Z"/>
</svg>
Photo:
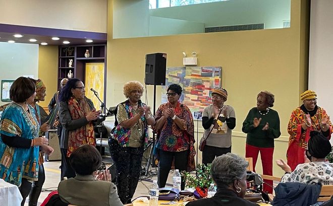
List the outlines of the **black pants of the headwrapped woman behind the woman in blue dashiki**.
<svg viewBox="0 0 333 206">
<path fill-rule="evenodd" d="M 29 206 L 37 206 L 38 198 L 45 182 L 45 172 L 43 164 L 39 165 L 38 180 L 32 183 L 31 192 L 29 194 Z"/>
</svg>

